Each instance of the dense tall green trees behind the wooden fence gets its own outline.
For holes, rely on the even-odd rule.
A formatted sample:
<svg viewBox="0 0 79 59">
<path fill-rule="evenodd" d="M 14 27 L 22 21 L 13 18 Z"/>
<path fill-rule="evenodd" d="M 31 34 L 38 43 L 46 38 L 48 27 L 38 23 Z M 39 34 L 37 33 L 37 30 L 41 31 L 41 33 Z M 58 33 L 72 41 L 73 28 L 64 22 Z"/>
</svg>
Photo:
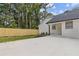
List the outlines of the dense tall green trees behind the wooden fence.
<svg viewBox="0 0 79 59">
<path fill-rule="evenodd" d="M 0 27 L 38 28 L 40 9 L 43 3 L 5 3 L 0 4 Z"/>
</svg>

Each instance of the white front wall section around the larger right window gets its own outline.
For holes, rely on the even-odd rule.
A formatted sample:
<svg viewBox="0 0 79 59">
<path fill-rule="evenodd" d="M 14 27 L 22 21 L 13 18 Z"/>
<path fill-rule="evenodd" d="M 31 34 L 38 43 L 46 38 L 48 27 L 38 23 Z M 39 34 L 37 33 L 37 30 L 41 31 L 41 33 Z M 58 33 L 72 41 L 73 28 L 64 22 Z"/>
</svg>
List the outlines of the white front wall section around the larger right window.
<svg viewBox="0 0 79 59">
<path fill-rule="evenodd" d="M 73 29 L 66 29 L 65 21 L 62 22 L 62 36 L 79 38 L 79 19 L 72 21 L 73 21 Z"/>
</svg>

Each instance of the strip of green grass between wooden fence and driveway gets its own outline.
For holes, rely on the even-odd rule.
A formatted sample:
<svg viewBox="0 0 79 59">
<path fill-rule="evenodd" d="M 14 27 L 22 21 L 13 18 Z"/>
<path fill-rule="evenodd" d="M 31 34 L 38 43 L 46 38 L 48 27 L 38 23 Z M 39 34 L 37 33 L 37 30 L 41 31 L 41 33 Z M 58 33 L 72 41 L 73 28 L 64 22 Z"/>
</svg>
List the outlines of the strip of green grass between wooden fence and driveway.
<svg viewBox="0 0 79 59">
<path fill-rule="evenodd" d="M 35 35 L 29 35 L 29 36 L 6 36 L 6 37 L 0 37 L 0 43 L 2 42 L 10 42 L 10 41 L 16 41 L 16 40 L 23 40 L 28 38 L 35 38 L 37 36 Z"/>
</svg>

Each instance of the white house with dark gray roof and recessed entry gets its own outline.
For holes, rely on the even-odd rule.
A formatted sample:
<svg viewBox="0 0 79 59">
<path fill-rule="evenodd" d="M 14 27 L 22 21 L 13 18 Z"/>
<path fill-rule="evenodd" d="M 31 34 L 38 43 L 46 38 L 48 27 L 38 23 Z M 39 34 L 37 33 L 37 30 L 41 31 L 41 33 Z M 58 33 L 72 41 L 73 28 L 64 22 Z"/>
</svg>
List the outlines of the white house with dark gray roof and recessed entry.
<svg viewBox="0 0 79 59">
<path fill-rule="evenodd" d="M 79 9 L 56 15 L 47 24 L 48 32 L 51 35 L 79 38 Z"/>
</svg>

